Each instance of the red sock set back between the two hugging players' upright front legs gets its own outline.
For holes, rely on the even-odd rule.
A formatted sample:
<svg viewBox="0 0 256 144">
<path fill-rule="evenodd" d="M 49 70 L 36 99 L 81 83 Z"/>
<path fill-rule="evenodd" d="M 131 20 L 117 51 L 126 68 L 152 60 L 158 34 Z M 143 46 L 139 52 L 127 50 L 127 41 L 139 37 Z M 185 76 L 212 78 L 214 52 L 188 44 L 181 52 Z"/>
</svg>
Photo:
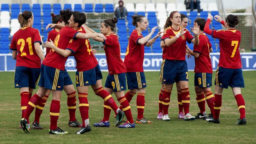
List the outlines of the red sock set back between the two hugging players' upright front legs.
<svg viewBox="0 0 256 144">
<path fill-rule="evenodd" d="M 67 94 L 67 104 L 69 112 L 69 121 L 76 121 L 76 91 Z"/>
</svg>

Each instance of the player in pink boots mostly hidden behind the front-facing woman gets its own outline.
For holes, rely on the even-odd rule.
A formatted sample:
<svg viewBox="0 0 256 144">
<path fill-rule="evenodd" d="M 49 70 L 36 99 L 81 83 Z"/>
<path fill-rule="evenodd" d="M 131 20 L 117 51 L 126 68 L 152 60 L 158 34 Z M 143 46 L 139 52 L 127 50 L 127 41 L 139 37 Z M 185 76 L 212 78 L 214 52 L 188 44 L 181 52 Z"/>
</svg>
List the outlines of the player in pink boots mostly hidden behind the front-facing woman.
<svg viewBox="0 0 256 144">
<path fill-rule="evenodd" d="M 169 21 L 170 18 L 167 18 L 167 21 Z M 180 27 L 182 27 L 185 24 L 185 28 L 188 26 L 188 17 L 185 14 L 180 14 Z M 168 25 L 165 25 L 164 28 L 168 28 Z M 188 58 L 190 58 L 190 53 L 187 52 Z M 163 61 L 161 63 L 161 68 L 162 69 L 162 65 L 163 65 Z M 160 72 L 161 74 L 161 72 Z M 162 76 L 161 76 L 162 77 Z M 163 84 L 163 80 L 160 77 L 160 83 L 161 85 L 161 90 L 159 93 L 159 111 L 157 114 L 157 119 L 162 119 L 163 118 L 163 106 L 162 106 L 162 96 L 163 96 L 163 92 L 164 92 L 164 84 Z M 177 97 L 178 97 L 178 106 L 179 106 L 179 114 L 178 114 L 178 118 L 180 119 L 184 119 L 184 114 L 183 114 L 183 105 L 181 102 L 181 91 L 180 91 L 180 84 L 179 82 L 176 82 L 176 88 L 177 88 Z"/>
</svg>

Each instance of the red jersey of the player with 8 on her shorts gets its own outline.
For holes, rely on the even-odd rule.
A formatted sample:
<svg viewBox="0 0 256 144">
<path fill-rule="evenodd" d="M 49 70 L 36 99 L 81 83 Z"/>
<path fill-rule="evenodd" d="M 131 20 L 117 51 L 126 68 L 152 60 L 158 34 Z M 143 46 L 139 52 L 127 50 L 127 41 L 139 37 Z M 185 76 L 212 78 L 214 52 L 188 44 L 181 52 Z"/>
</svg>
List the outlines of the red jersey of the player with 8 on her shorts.
<svg viewBox="0 0 256 144">
<path fill-rule="evenodd" d="M 195 73 L 212 73 L 212 62 L 209 49 L 212 47 L 205 33 L 198 34 L 199 45 L 194 45 L 194 52 L 200 53 L 195 58 Z"/>
</svg>

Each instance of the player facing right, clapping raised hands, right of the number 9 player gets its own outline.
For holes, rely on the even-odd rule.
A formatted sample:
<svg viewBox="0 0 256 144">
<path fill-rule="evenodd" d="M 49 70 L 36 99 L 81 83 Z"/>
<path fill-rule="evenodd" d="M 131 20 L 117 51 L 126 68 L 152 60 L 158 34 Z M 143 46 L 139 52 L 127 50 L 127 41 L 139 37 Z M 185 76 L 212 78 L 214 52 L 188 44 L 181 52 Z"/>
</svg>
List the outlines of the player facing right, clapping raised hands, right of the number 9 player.
<svg viewBox="0 0 256 144">
<path fill-rule="evenodd" d="M 143 30 L 148 30 L 147 18 L 142 15 L 133 15 L 132 19 L 132 25 L 136 26 L 136 29 L 134 29 L 131 33 L 124 58 L 124 64 L 127 70 L 127 84 L 129 89 L 129 91 L 125 94 L 125 98 L 128 100 L 128 102 L 130 102 L 134 94 L 138 92 L 136 101 L 138 116 L 136 123 L 150 124 L 153 122 L 148 121 L 143 116 L 146 92 L 145 87 L 147 87 L 143 70 L 144 46 L 152 45 L 163 32 L 158 32 L 155 37 L 149 40 L 149 38 L 154 34 L 158 27 L 152 28 L 151 32 L 147 36 L 143 37 L 141 32 Z"/>
</svg>

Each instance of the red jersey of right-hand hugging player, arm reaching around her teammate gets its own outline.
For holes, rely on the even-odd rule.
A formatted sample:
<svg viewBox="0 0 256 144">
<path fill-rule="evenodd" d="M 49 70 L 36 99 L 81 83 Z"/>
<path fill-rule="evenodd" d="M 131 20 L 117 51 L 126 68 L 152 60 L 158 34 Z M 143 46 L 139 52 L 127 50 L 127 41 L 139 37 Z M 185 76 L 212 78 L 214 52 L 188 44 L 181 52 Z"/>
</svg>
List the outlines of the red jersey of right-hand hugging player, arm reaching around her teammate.
<svg viewBox="0 0 256 144">
<path fill-rule="evenodd" d="M 84 28 L 78 28 L 77 31 L 86 33 Z M 78 71 L 86 71 L 95 68 L 98 64 L 92 53 L 89 39 L 77 39 L 68 44 L 67 49 L 74 50 L 76 60 L 76 69 Z"/>
</svg>

